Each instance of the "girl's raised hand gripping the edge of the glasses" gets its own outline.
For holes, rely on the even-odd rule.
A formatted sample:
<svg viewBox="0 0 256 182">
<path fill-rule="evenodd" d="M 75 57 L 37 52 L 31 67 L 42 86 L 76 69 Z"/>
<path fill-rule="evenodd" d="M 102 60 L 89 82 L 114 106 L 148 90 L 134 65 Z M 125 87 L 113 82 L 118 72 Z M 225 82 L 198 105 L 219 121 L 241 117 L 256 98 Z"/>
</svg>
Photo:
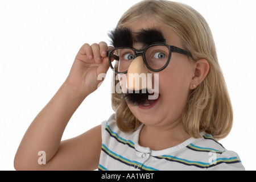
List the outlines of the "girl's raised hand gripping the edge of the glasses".
<svg viewBox="0 0 256 182">
<path fill-rule="evenodd" d="M 76 55 L 71 71 L 65 81 L 77 92 L 88 96 L 97 89 L 102 81 L 98 75 L 106 73 L 109 69 L 107 51 L 112 49 L 105 42 L 98 44 L 84 44 Z"/>
</svg>

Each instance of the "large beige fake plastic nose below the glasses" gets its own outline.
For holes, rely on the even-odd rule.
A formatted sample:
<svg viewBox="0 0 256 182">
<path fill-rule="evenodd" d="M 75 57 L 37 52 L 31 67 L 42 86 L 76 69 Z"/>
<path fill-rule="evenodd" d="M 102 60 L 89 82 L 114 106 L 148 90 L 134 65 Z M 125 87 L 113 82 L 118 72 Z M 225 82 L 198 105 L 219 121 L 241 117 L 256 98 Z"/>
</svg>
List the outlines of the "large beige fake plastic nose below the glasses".
<svg viewBox="0 0 256 182">
<path fill-rule="evenodd" d="M 142 56 L 135 57 L 128 68 L 127 88 L 129 90 L 152 89 L 152 77 L 148 73 Z"/>
</svg>

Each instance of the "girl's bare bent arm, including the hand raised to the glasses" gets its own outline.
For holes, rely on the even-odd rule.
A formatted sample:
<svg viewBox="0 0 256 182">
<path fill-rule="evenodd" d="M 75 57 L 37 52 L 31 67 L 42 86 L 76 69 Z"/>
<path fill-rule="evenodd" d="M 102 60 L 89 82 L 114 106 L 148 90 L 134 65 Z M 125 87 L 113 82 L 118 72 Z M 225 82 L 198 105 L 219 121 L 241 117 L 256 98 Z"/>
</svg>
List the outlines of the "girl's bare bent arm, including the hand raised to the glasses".
<svg viewBox="0 0 256 182">
<path fill-rule="evenodd" d="M 61 142 L 69 119 L 90 93 L 97 89 L 100 73 L 108 71 L 106 43 L 84 44 L 71 72 L 55 96 L 28 127 L 14 159 L 15 169 L 96 169 L 101 151 L 101 126 Z M 38 162 L 44 151 L 46 164 Z M 43 154 L 44 155 L 44 154 Z"/>
</svg>

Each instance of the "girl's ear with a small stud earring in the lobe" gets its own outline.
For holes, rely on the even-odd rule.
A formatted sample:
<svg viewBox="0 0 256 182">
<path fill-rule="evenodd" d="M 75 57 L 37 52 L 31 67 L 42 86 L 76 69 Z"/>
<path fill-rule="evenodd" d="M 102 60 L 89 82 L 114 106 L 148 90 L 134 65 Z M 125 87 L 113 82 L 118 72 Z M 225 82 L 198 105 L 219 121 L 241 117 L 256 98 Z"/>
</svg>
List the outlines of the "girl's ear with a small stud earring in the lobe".
<svg viewBox="0 0 256 182">
<path fill-rule="evenodd" d="M 195 61 L 193 64 L 193 77 L 191 80 L 190 89 L 195 89 L 201 82 L 204 81 L 204 78 L 207 76 L 210 70 L 210 65 L 207 60 L 200 59 Z"/>
</svg>

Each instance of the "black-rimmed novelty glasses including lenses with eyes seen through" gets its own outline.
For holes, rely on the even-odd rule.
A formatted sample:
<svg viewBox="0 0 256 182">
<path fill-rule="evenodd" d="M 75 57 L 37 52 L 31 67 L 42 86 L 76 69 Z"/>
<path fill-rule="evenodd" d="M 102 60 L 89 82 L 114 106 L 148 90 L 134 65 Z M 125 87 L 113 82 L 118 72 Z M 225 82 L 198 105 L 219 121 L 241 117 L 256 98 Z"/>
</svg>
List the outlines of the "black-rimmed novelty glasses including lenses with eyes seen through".
<svg viewBox="0 0 256 182">
<path fill-rule="evenodd" d="M 142 50 L 117 47 L 108 51 L 109 65 L 115 73 L 125 74 L 135 57 L 141 55 L 148 69 L 153 72 L 160 72 L 170 63 L 172 52 L 191 56 L 188 51 L 175 46 L 168 46 L 165 43 L 151 44 Z"/>
</svg>

